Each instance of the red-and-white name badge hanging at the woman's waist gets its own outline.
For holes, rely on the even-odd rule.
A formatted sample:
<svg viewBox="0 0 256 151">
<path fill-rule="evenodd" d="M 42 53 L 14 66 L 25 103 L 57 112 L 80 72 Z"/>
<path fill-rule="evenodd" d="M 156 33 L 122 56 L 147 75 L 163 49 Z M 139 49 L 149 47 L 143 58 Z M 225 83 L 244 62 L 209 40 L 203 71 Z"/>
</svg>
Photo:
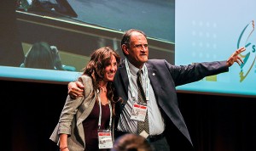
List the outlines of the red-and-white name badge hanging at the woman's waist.
<svg viewBox="0 0 256 151">
<path fill-rule="evenodd" d="M 99 148 L 113 148 L 111 131 L 98 130 Z"/>
</svg>

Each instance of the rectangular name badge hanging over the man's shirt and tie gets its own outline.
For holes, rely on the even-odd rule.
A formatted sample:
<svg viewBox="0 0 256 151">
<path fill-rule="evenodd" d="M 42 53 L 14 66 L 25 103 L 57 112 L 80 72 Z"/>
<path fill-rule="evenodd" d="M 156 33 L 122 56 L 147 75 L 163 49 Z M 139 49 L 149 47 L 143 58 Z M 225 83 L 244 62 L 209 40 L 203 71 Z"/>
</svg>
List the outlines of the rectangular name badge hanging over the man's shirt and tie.
<svg viewBox="0 0 256 151">
<path fill-rule="evenodd" d="M 134 103 L 131 110 L 131 120 L 144 121 L 147 114 L 147 105 Z"/>
</svg>

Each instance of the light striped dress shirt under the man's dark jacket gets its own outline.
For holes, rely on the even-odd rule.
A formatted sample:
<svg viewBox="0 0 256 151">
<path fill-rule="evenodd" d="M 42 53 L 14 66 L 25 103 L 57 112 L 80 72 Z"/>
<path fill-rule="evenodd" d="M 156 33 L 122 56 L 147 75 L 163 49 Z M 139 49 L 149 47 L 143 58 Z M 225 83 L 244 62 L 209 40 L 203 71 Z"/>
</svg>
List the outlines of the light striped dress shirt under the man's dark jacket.
<svg viewBox="0 0 256 151">
<path fill-rule="evenodd" d="M 132 133 L 137 133 L 137 120 L 131 120 L 131 110 L 134 100 L 131 97 L 131 85 L 134 87 L 135 90 L 137 90 L 137 69 L 134 65 L 132 65 L 128 61 L 128 65 L 131 72 L 131 83 L 128 87 L 128 101 L 125 104 L 125 108 L 123 109 L 120 118 L 119 118 L 119 124 L 118 124 L 118 130 L 119 131 L 127 131 Z M 142 70 L 145 66 L 143 66 Z M 143 78 L 146 78 L 143 74 Z M 149 81 L 149 78 L 148 78 Z M 146 83 L 143 83 L 143 88 L 145 87 Z M 145 88 L 144 88 L 145 91 Z M 137 91 L 134 91 L 135 97 L 137 100 Z M 137 102 L 136 102 L 137 103 Z M 149 124 L 149 135 L 159 135 L 165 130 L 165 122 L 163 117 L 160 114 L 160 109 L 158 107 L 158 104 L 156 103 L 156 99 L 154 96 L 154 91 L 151 86 L 151 83 L 149 81 L 149 100 L 147 101 L 148 106 L 148 124 Z"/>
</svg>

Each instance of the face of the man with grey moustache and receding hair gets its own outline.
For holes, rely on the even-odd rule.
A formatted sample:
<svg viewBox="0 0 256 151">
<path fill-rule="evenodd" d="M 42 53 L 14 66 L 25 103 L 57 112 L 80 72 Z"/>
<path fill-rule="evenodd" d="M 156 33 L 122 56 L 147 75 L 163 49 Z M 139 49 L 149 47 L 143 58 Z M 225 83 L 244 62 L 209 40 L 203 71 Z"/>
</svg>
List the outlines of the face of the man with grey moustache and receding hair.
<svg viewBox="0 0 256 151">
<path fill-rule="evenodd" d="M 148 41 L 143 34 L 134 31 L 131 34 L 130 47 L 126 51 L 127 59 L 141 69 L 143 64 L 148 61 Z"/>
</svg>

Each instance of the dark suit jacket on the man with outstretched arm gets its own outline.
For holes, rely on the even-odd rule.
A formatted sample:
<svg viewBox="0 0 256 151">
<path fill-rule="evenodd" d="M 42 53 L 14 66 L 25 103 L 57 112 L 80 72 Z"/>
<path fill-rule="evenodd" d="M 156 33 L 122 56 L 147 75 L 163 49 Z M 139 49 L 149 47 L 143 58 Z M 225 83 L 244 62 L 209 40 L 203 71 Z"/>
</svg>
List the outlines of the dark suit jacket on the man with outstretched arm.
<svg viewBox="0 0 256 151">
<path fill-rule="evenodd" d="M 174 127 L 173 130 L 179 131 L 177 133 L 182 134 L 189 141 L 190 146 L 193 146 L 188 128 L 183 120 L 183 115 L 178 108 L 176 87 L 193 81 L 199 81 L 205 76 L 217 75 L 218 73 L 228 71 L 229 68 L 226 66 L 226 61 L 176 66 L 169 64 L 164 59 L 148 59 L 146 66 L 156 101 L 159 104 L 166 124 L 170 122 Z M 124 61 L 119 65 L 119 70 L 114 77 L 114 86 L 116 87 L 115 96 L 123 100 L 123 103 L 116 103 L 115 126 L 117 126 L 119 115 L 128 100 L 129 81 Z M 166 129 L 169 128 L 171 127 L 166 126 Z"/>
</svg>

